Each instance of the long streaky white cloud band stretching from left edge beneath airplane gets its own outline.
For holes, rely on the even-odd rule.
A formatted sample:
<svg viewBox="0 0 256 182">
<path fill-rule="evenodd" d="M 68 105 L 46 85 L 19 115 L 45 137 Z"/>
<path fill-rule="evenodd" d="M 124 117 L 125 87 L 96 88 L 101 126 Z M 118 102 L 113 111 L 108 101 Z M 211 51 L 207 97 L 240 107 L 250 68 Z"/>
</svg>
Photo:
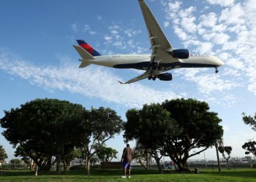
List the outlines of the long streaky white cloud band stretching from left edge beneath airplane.
<svg viewBox="0 0 256 182">
<path fill-rule="evenodd" d="M 61 61 L 65 64 L 58 67 L 34 66 L 0 49 L 1 71 L 45 90 L 67 90 L 129 108 L 180 97 L 170 90 L 154 90 L 139 83 L 119 84 L 120 77 L 99 66 L 80 69 L 70 64 L 69 58 L 61 58 Z"/>
</svg>

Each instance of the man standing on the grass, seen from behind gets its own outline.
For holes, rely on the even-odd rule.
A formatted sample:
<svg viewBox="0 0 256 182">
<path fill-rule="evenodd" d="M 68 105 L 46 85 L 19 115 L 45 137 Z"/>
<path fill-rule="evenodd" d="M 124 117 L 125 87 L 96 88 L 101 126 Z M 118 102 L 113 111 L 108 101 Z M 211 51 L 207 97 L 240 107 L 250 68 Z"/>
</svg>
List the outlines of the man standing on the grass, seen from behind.
<svg viewBox="0 0 256 182">
<path fill-rule="evenodd" d="M 133 159 L 133 151 L 132 148 L 129 147 L 129 143 L 127 143 L 127 147 L 124 148 L 121 162 L 123 165 L 123 175 L 121 178 L 127 178 L 127 169 L 129 170 L 128 178 L 131 178 L 131 162 Z"/>
</svg>

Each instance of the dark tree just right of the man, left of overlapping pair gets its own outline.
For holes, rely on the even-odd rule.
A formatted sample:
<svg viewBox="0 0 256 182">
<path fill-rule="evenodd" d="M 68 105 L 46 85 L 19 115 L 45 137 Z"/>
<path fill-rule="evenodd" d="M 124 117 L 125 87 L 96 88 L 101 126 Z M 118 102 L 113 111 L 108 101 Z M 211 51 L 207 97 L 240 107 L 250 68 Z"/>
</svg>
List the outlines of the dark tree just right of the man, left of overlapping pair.
<svg viewBox="0 0 256 182">
<path fill-rule="evenodd" d="M 157 162 L 159 173 L 162 173 L 160 159 L 166 141 L 173 135 L 178 135 L 176 122 L 170 118 L 170 113 L 158 104 L 144 105 L 142 109 L 127 111 L 127 122 L 124 124 L 124 137 L 129 141 L 138 140 Z"/>
</svg>

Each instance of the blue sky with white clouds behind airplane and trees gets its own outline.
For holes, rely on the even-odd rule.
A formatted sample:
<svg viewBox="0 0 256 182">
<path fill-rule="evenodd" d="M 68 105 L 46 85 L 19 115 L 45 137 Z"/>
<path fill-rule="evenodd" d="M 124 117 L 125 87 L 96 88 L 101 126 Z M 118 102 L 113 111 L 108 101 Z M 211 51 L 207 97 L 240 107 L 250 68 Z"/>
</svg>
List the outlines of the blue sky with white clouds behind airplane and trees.
<svg viewBox="0 0 256 182">
<path fill-rule="evenodd" d="M 84 39 L 102 55 L 151 54 L 148 33 L 137 0 L 0 1 L 0 118 L 36 98 L 58 98 L 85 108 L 112 108 L 126 121 L 130 108 L 176 98 L 206 101 L 218 113 L 225 146 L 232 157 L 244 157 L 241 146 L 256 132 L 242 113 L 255 114 L 256 4 L 253 0 L 146 0 L 170 44 L 195 54 L 215 55 L 225 62 L 214 68 L 170 71 L 173 81 L 122 85 L 141 74 L 132 69 L 78 68 L 72 47 Z M 0 132 L 4 129 L 1 128 Z M 15 149 L 0 135 L 0 145 L 13 159 Z M 122 135 L 108 146 L 124 148 Z M 134 143 L 132 144 L 134 146 Z M 216 159 L 214 148 L 206 159 Z M 200 154 L 192 159 L 204 159 Z"/>
</svg>

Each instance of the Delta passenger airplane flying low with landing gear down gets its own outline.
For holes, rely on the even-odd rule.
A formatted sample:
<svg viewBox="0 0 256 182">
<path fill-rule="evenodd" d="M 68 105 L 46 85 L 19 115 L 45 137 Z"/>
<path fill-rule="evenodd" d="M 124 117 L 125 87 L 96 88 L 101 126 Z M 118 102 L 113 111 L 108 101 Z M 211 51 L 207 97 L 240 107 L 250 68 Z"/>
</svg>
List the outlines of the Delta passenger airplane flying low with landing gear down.
<svg viewBox="0 0 256 182">
<path fill-rule="evenodd" d="M 85 68 L 91 64 L 112 68 L 133 68 L 145 71 L 140 76 L 121 84 L 130 84 L 141 79 L 159 79 L 170 81 L 173 75 L 166 71 L 174 68 L 215 68 L 224 65 L 222 60 L 212 55 L 190 54 L 187 49 L 173 49 L 167 40 L 165 33 L 157 23 L 151 10 L 143 0 L 138 0 L 140 9 L 148 29 L 148 39 L 151 43 L 151 55 L 100 55 L 86 41 L 77 40 L 78 45 L 73 45 L 80 55 L 82 62 L 79 68 Z"/>
</svg>

